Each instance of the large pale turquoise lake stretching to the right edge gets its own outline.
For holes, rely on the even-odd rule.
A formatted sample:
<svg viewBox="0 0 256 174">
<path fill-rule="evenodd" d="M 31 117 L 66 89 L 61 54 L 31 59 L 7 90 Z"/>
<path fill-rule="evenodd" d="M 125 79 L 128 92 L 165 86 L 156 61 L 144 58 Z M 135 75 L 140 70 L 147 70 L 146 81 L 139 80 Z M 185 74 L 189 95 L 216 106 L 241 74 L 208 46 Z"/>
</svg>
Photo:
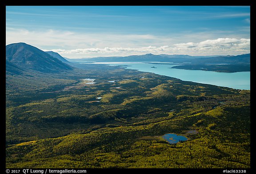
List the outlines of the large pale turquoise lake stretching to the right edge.
<svg viewBox="0 0 256 174">
<path fill-rule="evenodd" d="M 233 89 L 250 90 L 250 72 L 219 73 L 214 71 L 201 70 L 179 70 L 171 68 L 172 66 L 176 66 L 176 64 L 162 65 L 143 62 L 96 62 L 96 64 L 125 66 L 125 68 L 128 69 L 156 73 L 168 77 L 175 77 L 183 81 L 193 81 L 210 85 L 224 86 Z"/>
</svg>

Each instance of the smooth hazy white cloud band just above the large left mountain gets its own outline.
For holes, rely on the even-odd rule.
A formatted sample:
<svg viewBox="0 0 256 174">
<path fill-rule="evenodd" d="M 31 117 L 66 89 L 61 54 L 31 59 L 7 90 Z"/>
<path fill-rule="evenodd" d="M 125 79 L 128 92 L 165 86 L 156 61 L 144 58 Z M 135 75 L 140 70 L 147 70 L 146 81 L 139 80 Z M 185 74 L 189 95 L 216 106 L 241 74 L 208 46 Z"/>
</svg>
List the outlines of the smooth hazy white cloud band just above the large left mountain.
<svg viewBox="0 0 256 174">
<path fill-rule="evenodd" d="M 28 31 L 6 27 L 6 44 L 24 42 L 44 49 L 76 49 L 83 47 L 134 47 L 157 43 L 161 38 L 154 35 L 118 35 L 105 33 L 73 33 L 70 31 Z M 166 39 L 165 39 L 166 40 Z M 167 39 L 166 41 L 170 41 Z"/>
</svg>

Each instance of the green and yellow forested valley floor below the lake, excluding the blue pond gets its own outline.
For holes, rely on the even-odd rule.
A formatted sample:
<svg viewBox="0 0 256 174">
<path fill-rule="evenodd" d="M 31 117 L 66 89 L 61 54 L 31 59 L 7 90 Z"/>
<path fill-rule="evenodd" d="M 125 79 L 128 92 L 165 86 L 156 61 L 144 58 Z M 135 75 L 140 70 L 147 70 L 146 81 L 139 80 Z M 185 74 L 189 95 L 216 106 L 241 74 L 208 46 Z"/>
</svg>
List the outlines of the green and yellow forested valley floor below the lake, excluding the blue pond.
<svg viewBox="0 0 256 174">
<path fill-rule="evenodd" d="M 7 168 L 250 168 L 250 90 L 73 66 L 6 74 Z"/>
</svg>

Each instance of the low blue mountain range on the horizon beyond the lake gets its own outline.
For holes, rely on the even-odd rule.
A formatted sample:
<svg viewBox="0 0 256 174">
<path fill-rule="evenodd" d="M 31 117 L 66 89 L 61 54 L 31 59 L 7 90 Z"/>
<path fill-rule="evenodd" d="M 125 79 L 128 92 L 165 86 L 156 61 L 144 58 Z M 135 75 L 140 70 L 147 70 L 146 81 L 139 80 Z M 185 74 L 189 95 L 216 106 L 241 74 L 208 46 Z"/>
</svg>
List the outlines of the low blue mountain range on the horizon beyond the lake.
<svg viewBox="0 0 256 174">
<path fill-rule="evenodd" d="M 144 54 L 131 55 L 125 57 L 97 57 L 97 58 L 81 58 L 68 59 L 70 62 L 88 61 L 88 62 L 173 62 L 191 64 L 206 63 L 227 63 L 227 64 L 250 64 L 250 54 L 242 54 L 237 56 L 190 56 L 190 55 L 168 55 L 168 54 Z"/>
</svg>

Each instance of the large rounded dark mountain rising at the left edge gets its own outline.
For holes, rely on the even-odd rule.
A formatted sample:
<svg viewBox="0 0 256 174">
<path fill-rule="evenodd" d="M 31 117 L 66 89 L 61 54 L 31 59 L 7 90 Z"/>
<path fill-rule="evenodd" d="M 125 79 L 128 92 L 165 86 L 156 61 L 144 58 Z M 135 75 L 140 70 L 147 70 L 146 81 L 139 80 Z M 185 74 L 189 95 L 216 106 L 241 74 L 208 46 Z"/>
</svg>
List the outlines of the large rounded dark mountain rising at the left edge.
<svg viewBox="0 0 256 174">
<path fill-rule="evenodd" d="M 62 62 L 60 58 L 53 57 L 35 46 L 26 43 L 12 43 L 7 45 L 7 73 L 19 74 L 27 70 L 36 70 L 44 73 L 59 73 L 73 70 L 73 67 Z"/>
</svg>

